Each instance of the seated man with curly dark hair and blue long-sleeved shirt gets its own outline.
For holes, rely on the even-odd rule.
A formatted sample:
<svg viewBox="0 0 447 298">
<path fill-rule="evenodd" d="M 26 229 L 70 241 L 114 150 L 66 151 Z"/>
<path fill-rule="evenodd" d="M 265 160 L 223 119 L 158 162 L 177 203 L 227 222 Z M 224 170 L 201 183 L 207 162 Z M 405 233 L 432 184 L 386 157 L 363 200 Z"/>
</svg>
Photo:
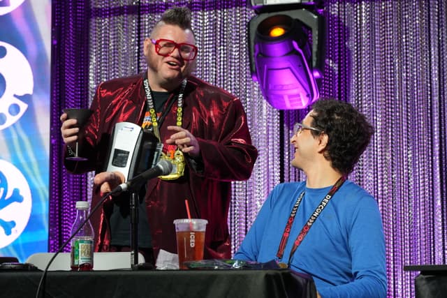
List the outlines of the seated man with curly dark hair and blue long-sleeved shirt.
<svg viewBox="0 0 447 298">
<path fill-rule="evenodd" d="M 268 195 L 235 260 L 268 262 L 310 274 L 317 297 L 386 297 L 385 239 L 379 207 L 346 180 L 374 128 L 349 103 L 318 100 L 291 143 L 293 167 L 307 179 Z"/>
</svg>

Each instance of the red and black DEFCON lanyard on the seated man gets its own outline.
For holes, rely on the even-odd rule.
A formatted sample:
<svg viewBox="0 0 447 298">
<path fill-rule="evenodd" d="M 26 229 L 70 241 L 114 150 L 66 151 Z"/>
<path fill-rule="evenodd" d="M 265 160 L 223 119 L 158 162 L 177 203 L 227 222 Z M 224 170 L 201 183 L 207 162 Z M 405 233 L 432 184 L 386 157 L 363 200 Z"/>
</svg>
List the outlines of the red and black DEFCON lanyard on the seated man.
<svg viewBox="0 0 447 298">
<path fill-rule="evenodd" d="M 335 182 L 334 186 L 330 188 L 330 191 L 327 195 L 321 200 L 320 204 L 316 207 L 315 211 L 312 213 L 312 215 L 307 220 L 307 223 L 302 227 L 300 234 L 298 234 L 298 237 L 296 237 L 295 242 L 293 243 L 293 247 L 291 250 L 291 254 L 288 256 L 288 262 L 287 267 L 290 267 L 291 259 L 293 254 L 295 253 L 298 246 L 300 246 L 303 239 L 305 239 L 305 236 L 307 232 L 309 232 L 310 228 L 312 228 L 312 225 L 316 221 L 316 218 L 321 214 L 323 209 L 325 208 L 326 204 L 328 204 L 329 200 L 332 198 L 332 196 L 335 194 L 336 191 L 339 190 L 339 188 L 343 185 L 344 181 L 346 181 L 346 177 L 342 176 L 340 177 L 337 182 Z M 281 260 L 282 256 L 284 255 L 284 249 L 286 248 L 288 236 L 290 235 L 293 221 L 295 221 L 295 215 L 298 211 L 298 207 L 300 207 L 300 203 L 302 198 L 304 198 L 305 192 L 303 191 L 298 199 L 295 202 L 295 205 L 293 205 L 291 215 L 288 217 L 288 221 L 286 223 L 286 228 L 284 228 L 284 232 L 281 237 L 281 242 L 279 242 L 279 248 L 277 252 L 277 258 L 278 260 Z"/>
</svg>

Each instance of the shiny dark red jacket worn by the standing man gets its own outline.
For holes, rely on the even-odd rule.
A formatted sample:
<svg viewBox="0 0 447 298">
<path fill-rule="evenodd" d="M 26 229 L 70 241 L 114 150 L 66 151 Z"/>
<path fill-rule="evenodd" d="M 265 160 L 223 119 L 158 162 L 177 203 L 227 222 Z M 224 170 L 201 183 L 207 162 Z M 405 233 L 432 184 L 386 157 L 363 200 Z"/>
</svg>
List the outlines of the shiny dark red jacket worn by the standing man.
<svg viewBox="0 0 447 298">
<path fill-rule="evenodd" d="M 163 142 L 172 134 L 166 127 L 175 125 L 176 109 L 174 104 L 160 128 Z M 147 182 L 145 203 L 155 255 L 159 248 L 177 252 L 173 221 L 187 217 L 184 200 L 188 199 L 192 204 L 191 216 L 208 221 L 204 258 L 230 258 L 227 224 L 230 181 L 249 179 L 258 155 L 251 145 L 247 117 L 242 103 L 235 96 L 196 77 L 189 77 L 183 109 L 182 127 L 189 130 L 200 144 L 203 170 L 196 172 L 187 162 L 184 177 L 174 181 L 151 179 Z M 103 172 L 115 124 L 121 121 L 142 124 L 145 114 L 142 75 L 101 83 L 91 110 L 94 114 L 80 132 L 80 154 L 88 157 L 89 161 L 65 161 L 67 170 L 73 173 Z M 98 188 L 94 189 L 92 206 L 100 198 Z M 111 213 L 112 204 L 108 200 L 103 204 L 101 214 L 96 212 L 91 220 L 96 231 L 96 251 L 108 251 L 108 218 Z"/>
</svg>

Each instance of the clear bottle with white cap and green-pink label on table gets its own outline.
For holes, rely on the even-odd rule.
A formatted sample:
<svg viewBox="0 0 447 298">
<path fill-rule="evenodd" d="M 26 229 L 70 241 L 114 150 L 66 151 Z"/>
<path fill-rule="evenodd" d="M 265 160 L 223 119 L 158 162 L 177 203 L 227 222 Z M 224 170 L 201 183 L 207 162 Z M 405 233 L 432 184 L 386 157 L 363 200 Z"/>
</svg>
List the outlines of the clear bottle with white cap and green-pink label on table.
<svg viewBox="0 0 447 298">
<path fill-rule="evenodd" d="M 76 219 L 71 227 L 73 234 L 85 221 L 89 214 L 89 202 L 76 202 Z M 71 270 L 72 271 L 90 271 L 93 270 L 93 241 L 94 232 L 90 221 L 79 230 L 71 239 Z"/>
</svg>

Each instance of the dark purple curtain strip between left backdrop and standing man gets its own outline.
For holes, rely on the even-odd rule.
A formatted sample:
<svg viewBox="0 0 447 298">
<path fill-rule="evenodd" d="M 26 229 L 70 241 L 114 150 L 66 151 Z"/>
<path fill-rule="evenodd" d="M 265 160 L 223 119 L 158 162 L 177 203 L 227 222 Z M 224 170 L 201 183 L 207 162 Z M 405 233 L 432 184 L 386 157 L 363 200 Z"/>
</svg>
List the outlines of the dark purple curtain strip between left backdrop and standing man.
<svg viewBox="0 0 447 298">
<path fill-rule="evenodd" d="M 88 10 L 82 1 L 52 1 L 49 251 L 70 237 L 75 202 L 86 200 L 88 193 L 87 175 L 67 174 L 64 168 L 59 121 L 65 107 L 89 106 Z"/>
</svg>

